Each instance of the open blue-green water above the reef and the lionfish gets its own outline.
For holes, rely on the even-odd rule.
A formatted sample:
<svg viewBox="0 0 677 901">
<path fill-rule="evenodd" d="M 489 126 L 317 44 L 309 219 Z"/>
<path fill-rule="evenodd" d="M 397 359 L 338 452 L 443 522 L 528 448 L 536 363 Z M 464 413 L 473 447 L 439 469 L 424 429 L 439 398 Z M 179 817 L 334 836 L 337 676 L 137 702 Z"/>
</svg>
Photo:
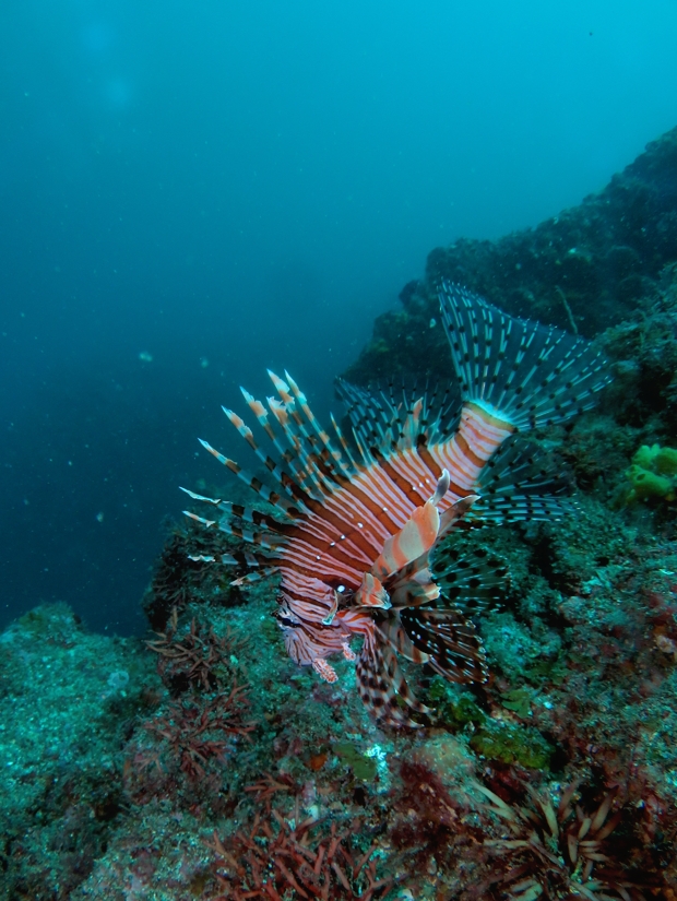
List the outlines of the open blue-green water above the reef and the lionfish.
<svg viewBox="0 0 677 901">
<path fill-rule="evenodd" d="M 178 515 L 285 366 L 324 416 L 459 236 L 601 189 L 677 122 L 674 2 L 4 0 L 0 624 L 142 628 Z"/>
</svg>

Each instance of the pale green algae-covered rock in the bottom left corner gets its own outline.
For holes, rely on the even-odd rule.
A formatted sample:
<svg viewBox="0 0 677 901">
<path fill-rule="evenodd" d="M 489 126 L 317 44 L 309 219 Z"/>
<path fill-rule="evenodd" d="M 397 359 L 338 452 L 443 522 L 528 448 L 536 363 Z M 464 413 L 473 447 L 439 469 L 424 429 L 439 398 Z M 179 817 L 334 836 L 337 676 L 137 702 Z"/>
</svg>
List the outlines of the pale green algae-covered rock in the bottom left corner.
<svg viewBox="0 0 677 901">
<path fill-rule="evenodd" d="M 0 636 L 0 897 L 69 898 L 123 819 L 118 750 L 157 679 L 61 605 Z"/>
</svg>

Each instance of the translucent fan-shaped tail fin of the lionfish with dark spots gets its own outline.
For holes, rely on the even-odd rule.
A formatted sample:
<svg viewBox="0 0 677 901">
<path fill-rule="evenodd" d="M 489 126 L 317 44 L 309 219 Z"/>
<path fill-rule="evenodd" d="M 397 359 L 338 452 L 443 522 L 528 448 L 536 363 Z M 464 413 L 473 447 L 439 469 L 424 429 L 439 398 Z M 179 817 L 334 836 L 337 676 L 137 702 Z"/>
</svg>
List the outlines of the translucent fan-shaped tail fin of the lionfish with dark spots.
<svg viewBox="0 0 677 901">
<path fill-rule="evenodd" d="M 463 399 L 523 431 L 561 423 L 595 404 L 610 381 L 590 342 L 508 316 L 460 285 L 439 292 Z"/>
</svg>

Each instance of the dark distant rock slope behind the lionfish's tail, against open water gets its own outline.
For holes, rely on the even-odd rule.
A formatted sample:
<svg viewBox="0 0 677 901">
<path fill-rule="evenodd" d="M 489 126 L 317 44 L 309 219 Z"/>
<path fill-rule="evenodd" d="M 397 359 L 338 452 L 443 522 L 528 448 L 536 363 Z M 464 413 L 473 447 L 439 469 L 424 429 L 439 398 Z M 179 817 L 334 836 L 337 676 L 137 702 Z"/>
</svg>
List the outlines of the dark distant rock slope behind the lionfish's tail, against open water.
<svg viewBox="0 0 677 901">
<path fill-rule="evenodd" d="M 514 316 L 591 337 L 630 316 L 676 257 L 677 128 L 602 191 L 535 228 L 435 248 L 425 278 L 403 289 L 404 309 L 376 320 L 372 342 L 344 377 L 367 384 L 400 372 L 451 375 L 442 330 L 429 328 L 442 280 Z"/>
</svg>

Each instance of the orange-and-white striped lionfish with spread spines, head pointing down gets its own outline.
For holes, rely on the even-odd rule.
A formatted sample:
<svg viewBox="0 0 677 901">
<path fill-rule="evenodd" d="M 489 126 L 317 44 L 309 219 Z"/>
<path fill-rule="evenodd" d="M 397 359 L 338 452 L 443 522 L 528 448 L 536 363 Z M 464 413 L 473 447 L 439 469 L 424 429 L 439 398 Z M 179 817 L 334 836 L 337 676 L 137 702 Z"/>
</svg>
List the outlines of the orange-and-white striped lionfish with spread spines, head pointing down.
<svg viewBox="0 0 677 901">
<path fill-rule="evenodd" d="M 340 381 L 349 443 L 333 416 L 330 438 L 288 374 L 269 372 L 278 398 L 268 399 L 268 410 L 241 391 L 274 455 L 240 416 L 224 412 L 275 487 L 201 443 L 275 514 L 187 491 L 217 511 L 189 517 L 254 548 L 193 559 L 246 564 L 253 571 L 238 584 L 278 571 L 275 616 L 292 660 L 330 683 L 336 673 L 328 657 L 355 661 L 365 704 L 396 726 L 431 713 L 408 688 L 400 659 L 452 683 L 488 675 L 468 609 L 496 595 L 502 561 L 479 545 L 454 552 L 446 542 L 433 576 L 432 552 L 464 519 L 479 525 L 566 513 L 563 478 L 548 474 L 520 432 L 592 407 L 609 381 L 605 360 L 581 337 L 510 317 L 455 284 L 443 283 L 439 300 L 460 399 L 455 387 L 417 398 Z"/>
</svg>

